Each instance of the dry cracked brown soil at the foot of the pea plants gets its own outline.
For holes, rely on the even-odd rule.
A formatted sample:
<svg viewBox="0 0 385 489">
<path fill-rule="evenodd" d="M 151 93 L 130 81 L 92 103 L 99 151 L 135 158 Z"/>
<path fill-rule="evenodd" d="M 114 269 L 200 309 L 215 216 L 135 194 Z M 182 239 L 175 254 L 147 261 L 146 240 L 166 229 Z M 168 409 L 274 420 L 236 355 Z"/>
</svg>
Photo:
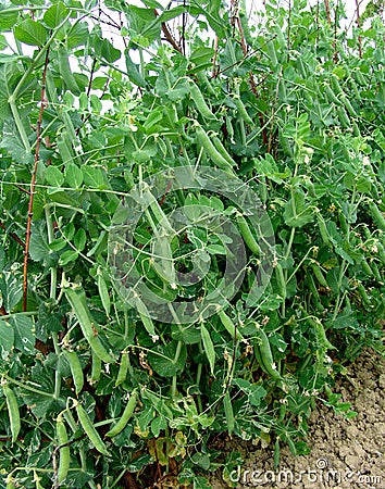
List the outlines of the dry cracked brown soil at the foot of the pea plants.
<svg viewBox="0 0 385 489">
<path fill-rule="evenodd" d="M 311 453 L 294 457 L 282 449 L 277 473 L 271 449 L 228 442 L 226 452 L 238 451 L 245 460 L 237 489 L 385 489 L 385 360 L 365 352 L 347 369 L 334 391 L 358 415 L 346 419 L 320 405 L 309 419 Z M 221 474 L 211 484 L 213 489 L 229 487 Z"/>
</svg>

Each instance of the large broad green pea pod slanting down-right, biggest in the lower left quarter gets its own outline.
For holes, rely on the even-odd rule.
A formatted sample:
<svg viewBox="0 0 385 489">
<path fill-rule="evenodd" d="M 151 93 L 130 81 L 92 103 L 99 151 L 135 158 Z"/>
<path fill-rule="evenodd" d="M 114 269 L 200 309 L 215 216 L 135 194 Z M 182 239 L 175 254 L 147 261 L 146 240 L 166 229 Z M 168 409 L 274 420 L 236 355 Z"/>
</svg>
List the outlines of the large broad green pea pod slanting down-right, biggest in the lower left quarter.
<svg viewBox="0 0 385 489">
<path fill-rule="evenodd" d="M 77 321 L 79 322 L 82 333 L 88 341 L 95 353 L 105 363 L 113 363 L 114 359 L 107 352 L 98 338 L 95 329 L 95 322 L 86 303 L 86 294 L 83 289 L 75 290 L 72 287 L 65 287 L 64 293 Z"/>
</svg>

